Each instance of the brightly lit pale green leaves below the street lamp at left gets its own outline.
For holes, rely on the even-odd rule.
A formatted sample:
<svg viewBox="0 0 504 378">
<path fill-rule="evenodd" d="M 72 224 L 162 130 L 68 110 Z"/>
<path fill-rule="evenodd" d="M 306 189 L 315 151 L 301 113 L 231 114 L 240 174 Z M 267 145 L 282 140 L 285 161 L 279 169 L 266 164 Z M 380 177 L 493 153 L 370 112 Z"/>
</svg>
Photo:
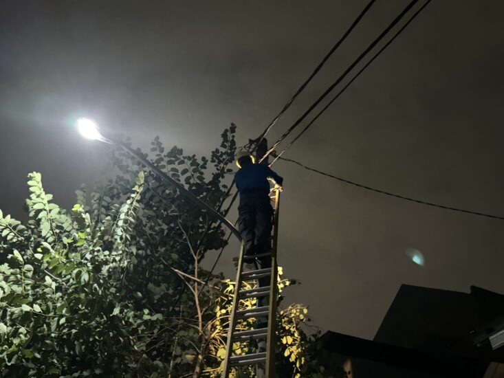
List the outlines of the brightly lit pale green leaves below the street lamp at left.
<svg viewBox="0 0 504 378">
<path fill-rule="evenodd" d="M 63 367 L 74 366 L 74 372 L 80 371 L 76 356 L 84 351 L 93 351 L 96 362 L 110 353 L 135 355 L 124 349 L 124 331 L 118 333 L 116 326 L 106 331 L 110 326 L 104 322 L 105 314 L 112 311 L 108 310 L 110 302 L 120 293 L 121 269 L 129 260 L 97 247 L 102 241 L 96 238 L 96 230 L 102 236 L 115 236 L 122 228 L 122 242 L 129 243 L 143 173 L 124 199 L 123 211 L 117 212 L 113 221 L 97 225 L 85 212 L 85 201 L 72 208 L 71 218 L 50 202 L 52 195 L 45 194 L 39 173 L 29 177 L 30 221 L 22 225 L 0 211 L 1 250 L 8 252 L 7 263 L 0 265 L 0 301 L 4 305 L 0 314 L 0 369 L 6 373 L 15 369 L 12 374 L 17 376 L 50 376 L 61 373 Z M 144 320 L 132 311 L 131 300 L 123 302 L 123 308 L 116 314 L 121 327 L 137 330 L 142 326 L 144 332 L 151 332 L 153 326 L 158 329 L 155 323 L 162 320 L 161 314 L 153 314 L 142 325 Z M 11 332 L 13 337 L 3 337 Z M 105 335 L 108 344 L 104 343 Z M 26 340 L 32 340 L 29 347 Z M 73 352 L 67 350 L 68 344 L 75 345 Z M 114 351 L 116 346 L 118 351 Z"/>
</svg>

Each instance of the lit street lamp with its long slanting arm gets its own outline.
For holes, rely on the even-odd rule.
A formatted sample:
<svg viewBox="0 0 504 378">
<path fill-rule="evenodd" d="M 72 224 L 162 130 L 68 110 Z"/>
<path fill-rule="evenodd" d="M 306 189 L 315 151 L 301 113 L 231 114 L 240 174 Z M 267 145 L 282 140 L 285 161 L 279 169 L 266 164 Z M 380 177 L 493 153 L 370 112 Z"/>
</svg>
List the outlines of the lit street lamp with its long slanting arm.
<svg viewBox="0 0 504 378">
<path fill-rule="evenodd" d="M 133 148 L 122 142 L 122 140 L 109 140 L 107 137 L 104 137 L 100 133 L 96 122 L 90 120 L 89 118 L 79 118 L 77 120 L 77 128 L 80 134 L 89 140 L 99 140 L 100 142 L 120 146 L 124 151 L 127 151 L 127 153 L 133 155 L 133 157 L 142 162 L 144 166 L 151 168 L 151 170 L 153 170 L 164 181 L 166 181 L 166 183 L 168 183 L 171 186 L 175 186 L 175 188 L 179 190 L 180 194 L 185 195 L 188 199 L 199 205 L 200 208 L 208 210 L 210 214 L 212 214 L 217 220 L 223 223 L 223 225 L 226 225 L 226 227 L 228 227 L 231 230 L 234 236 L 237 236 L 238 240 L 241 241 L 241 236 L 238 230 L 234 227 L 234 225 L 232 225 L 230 221 L 228 221 L 228 219 L 224 218 L 221 213 L 217 212 L 217 210 L 210 207 L 210 205 L 208 205 L 204 201 L 201 201 L 201 199 L 196 197 L 193 193 L 189 192 L 186 188 L 184 188 L 184 186 L 180 185 L 177 181 L 172 179 L 170 176 L 166 175 L 166 173 L 160 170 L 160 168 L 157 168 L 157 166 L 152 164 L 152 162 L 150 162 L 145 157 L 140 155 L 137 151 L 133 150 Z"/>
</svg>

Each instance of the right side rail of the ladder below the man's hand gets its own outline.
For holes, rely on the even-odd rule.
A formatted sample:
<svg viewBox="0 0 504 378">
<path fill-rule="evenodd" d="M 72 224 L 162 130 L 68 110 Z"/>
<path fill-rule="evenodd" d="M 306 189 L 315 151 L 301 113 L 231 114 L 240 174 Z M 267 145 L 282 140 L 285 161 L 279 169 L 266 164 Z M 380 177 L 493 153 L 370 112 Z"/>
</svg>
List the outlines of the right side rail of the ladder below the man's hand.
<svg viewBox="0 0 504 378">
<path fill-rule="evenodd" d="M 280 215 L 280 190 L 275 191 L 275 208 L 273 223 L 273 247 L 272 247 L 272 274 L 270 277 L 270 313 L 267 322 L 266 342 L 266 378 L 276 377 L 275 372 L 275 346 L 276 346 L 276 302 L 278 296 L 278 265 L 276 263 L 276 247 L 278 245 L 278 216 Z"/>
</svg>

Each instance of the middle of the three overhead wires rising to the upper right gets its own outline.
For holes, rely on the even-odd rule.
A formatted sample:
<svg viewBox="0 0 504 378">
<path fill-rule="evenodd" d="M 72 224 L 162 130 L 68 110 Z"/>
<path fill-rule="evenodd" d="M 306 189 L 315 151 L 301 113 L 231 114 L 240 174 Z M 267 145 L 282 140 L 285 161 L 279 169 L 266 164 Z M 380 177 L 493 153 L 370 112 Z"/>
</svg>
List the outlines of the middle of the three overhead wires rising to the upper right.
<svg viewBox="0 0 504 378">
<path fill-rule="evenodd" d="M 385 28 L 385 30 L 379 36 L 377 36 L 377 38 L 375 38 L 375 40 L 373 42 L 371 42 L 371 44 L 364 50 L 364 52 L 362 52 L 362 54 L 360 54 L 360 56 L 358 56 L 358 58 L 355 59 L 351 65 L 349 65 L 349 67 L 343 72 L 343 74 L 335 82 L 333 82 L 329 86 L 329 88 L 327 88 L 326 91 L 324 93 L 322 93 L 322 95 L 313 104 L 311 104 L 311 106 L 308 108 L 308 110 L 305 111 L 305 113 L 303 113 L 303 115 L 301 115 L 300 118 L 298 118 L 298 120 L 296 122 L 294 122 L 294 124 L 292 126 L 290 126 L 289 129 L 287 129 L 287 131 L 285 131 L 285 133 L 283 133 L 283 135 L 281 135 L 280 138 L 278 138 L 278 140 L 271 146 L 271 148 L 261 158 L 260 162 L 263 161 L 268 155 L 270 155 L 270 153 L 272 153 L 274 151 L 276 146 L 278 146 L 278 144 L 280 144 L 280 142 L 282 142 L 285 139 L 285 137 L 287 137 L 287 135 L 289 135 L 289 133 L 291 133 L 294 129 L 296 129 L 296 127 L 301 122 L 303 122 L 303 120 L 307 117 L 307 115 L 309 115 L 309 113 L 311 113 L 311 111 L 313 111 L 317 107 L 317 105 L 320 104 L 320 102 L 329 93 L 331 93 L 331 91 L 336 87 L 336 85 L 338 85 L 347 76 L 347 74 L 349 74 L 349 72 L 356 65 L 358 65 L 358 63 L 360 62 L 360 60 L 362 60 L 362 58 L 364 58 L 364 56 L 369 54 L 371 49 L 373 49 L 373 47 L 375 47 L 375 45 L 377 45 L 377 43 L 379 43 L 384 38 L 384 36 L 386 36 L 386 34 L 388 34 L 388 32 L 402 19 L 402 17 L 404 17 L 404 15 L 411 8 L 413 8 L 413 5 L 415 5 L 415 3 L 417 3 L 417 1 L 418 0 L 412 0 L 412 1 L 410 1 L 410 3 L 408 3 L 408 5 L 406 5 L 406 8 L 404 8 L 404 10 L 402 10 L 402 12 L 399 13 L 399 15 L 397 17 L 395 17 L 395 19 L 390 23 L 390 25 L 388 25 Z"/>
</svg>

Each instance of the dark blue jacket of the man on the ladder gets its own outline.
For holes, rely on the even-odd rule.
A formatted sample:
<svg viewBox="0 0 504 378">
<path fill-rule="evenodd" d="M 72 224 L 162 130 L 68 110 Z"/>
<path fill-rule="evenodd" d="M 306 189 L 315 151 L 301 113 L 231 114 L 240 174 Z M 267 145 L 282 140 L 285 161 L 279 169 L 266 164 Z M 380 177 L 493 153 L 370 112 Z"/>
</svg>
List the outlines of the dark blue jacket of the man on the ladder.
<svg viewBox="0 0 504 378">
<path fill-rule="evenodd" d="M 283 178 L 274 173 L 265 164 L 247 164 L 241 167 L 234 175 L 240 197 L 248 197 L 254 194 L 268 194 L 270 183 L 268 178 L 274 179 L 276 184 L 282 185 Z"/>
</svg>

